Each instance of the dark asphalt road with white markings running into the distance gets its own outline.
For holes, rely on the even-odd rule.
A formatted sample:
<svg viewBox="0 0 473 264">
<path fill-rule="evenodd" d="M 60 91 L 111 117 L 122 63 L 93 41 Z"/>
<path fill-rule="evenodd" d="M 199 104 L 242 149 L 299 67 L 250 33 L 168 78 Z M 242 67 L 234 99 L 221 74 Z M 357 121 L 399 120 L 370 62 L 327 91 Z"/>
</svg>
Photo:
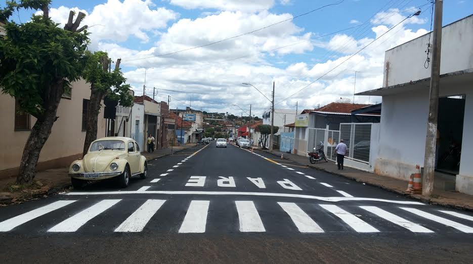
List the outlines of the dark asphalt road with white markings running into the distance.
<svg viewBox="0 0 473 264">
<path fill-rule="evenodd" d="M 473 214 L 262 152 L 212 142 L 148 168 L 0 208 L 1 262 L 473 262 Z"/>
</svg>

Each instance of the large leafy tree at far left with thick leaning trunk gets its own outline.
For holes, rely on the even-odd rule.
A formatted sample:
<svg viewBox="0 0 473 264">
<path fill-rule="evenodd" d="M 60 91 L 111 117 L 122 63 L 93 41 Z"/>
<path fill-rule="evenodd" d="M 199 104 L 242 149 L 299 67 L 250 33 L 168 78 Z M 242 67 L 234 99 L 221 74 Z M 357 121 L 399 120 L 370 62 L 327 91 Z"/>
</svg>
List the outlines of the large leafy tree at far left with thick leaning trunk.
<svg viewBox="0 0 473 264">
<path fill-rule="evenodd" d="M 48 140 L 61 96 L 80 78 L 85 66 L 89 43 L 87 26 L 79 28 L 85 14 L 74 12 L 64 28 L 49 17 L 51 0 L 7 2 L 0 10 L 6 35 L 0 37 L 0 89 L 19 103 L 19 111 L 36 118 L 23 149 L 19 184 L 30 184 L 35 176 L 39 153 Z M 31 20 L 17 24 L 9 21 L 14 11 L 41 10 Z"/>
</svg>

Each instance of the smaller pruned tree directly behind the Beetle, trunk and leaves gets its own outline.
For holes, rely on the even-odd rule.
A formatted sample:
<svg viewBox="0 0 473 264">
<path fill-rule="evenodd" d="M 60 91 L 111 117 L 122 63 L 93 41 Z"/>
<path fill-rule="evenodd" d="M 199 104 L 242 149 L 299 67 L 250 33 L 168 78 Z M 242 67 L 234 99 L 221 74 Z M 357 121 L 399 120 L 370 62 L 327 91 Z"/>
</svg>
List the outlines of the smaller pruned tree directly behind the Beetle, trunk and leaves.
<svg viewBox="0 0 473 264">
<path fill-rule="evenodd" d="M 85 131 L 83 155 L 87 154 L 92 141 L 97 139 L 101 101 L 105 97 L 117 100 L 123 107 L 133 106 L 130 85 L 124 84 L 126 79 L 120 71 L 120 59 L 117 60 L 113 71 L 109 71 L 110 64 L 111 60 L 108 58 L 107 52 L 87 53 L 87 66 L 83 78 L 91 84 L 91 97 L 87 107 L 87 130 Z"/>
</svg>

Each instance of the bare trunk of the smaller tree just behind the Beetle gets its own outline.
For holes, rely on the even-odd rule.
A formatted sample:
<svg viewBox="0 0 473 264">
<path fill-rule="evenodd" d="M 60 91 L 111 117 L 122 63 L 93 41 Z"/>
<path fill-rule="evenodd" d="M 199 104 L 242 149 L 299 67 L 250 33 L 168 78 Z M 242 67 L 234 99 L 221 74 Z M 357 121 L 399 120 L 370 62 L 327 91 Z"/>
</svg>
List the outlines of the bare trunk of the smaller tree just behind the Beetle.
<svg viewBox="0 0 473 264">
<path fill-rule="evenodd" d="M 85 140 L 82 156 L 87 154 L 91 143 L 97 139 L 98 118 L 100 114 L 101 101 L 103 93 L 98 91 L 94 85 L 91 86 L 91 98 L 87 107 L 87 130 L 85 131 Z"/>
</svg>

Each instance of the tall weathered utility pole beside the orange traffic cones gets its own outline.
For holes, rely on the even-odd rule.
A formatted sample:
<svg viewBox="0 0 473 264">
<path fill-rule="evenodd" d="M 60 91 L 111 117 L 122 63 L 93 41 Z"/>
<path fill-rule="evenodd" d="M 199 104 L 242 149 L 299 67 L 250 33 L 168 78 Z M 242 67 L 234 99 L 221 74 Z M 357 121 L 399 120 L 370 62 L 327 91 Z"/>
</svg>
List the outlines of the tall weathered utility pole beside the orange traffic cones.
<svg viewBox="0 0 473 264">
<path fill-rule="evenodd" d="M 442 44 L 443 0 L 435 1 L 434 37 L 432 48 L 431 83 L 427 119 L 427 136 L 425 138 L 424 175 L 422 195 L 431 196 L 434 191 L 435 152 L 437 143 L 437 121 L 439 112 L 440 54 Z"/>
</svg>

